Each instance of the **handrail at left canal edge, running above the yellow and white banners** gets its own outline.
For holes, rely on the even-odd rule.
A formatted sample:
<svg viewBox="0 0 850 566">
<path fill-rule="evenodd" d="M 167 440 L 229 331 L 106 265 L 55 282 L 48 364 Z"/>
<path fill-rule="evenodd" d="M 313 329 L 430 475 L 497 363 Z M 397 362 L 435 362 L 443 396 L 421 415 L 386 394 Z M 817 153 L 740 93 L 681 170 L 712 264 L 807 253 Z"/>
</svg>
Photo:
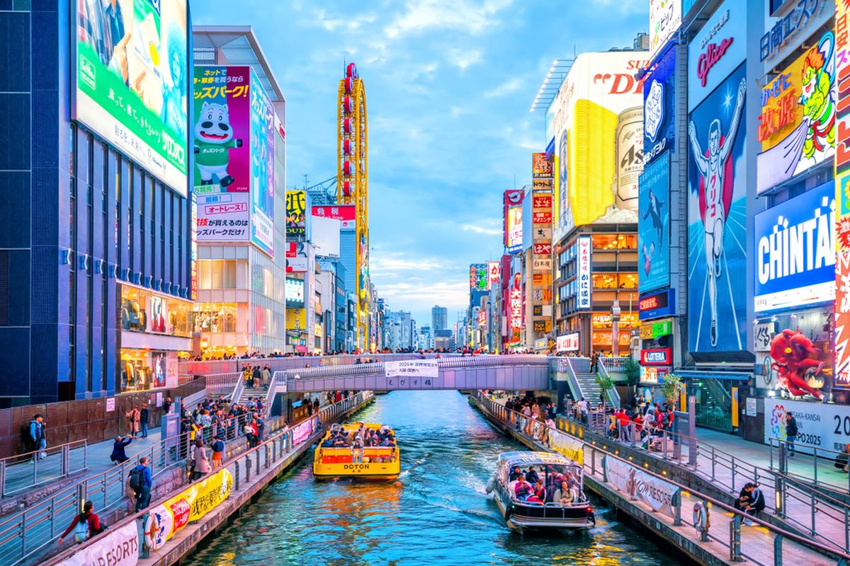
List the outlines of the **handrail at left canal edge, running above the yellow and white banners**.
<svg viewBox="0 0 850 566">
<path fill-rule="evenodd" d="M 221 466 L 222 469 L 223 468 L 229 468 L 230 466 L 235 466 L 236 474 L 235 474 L 235 477 L 234 477 L 233 490 L 234 491 L 240 490 L 240 477 L 239 477 L 239 462 L 240 461 L 242 461 L 242 460 L 246 461 L 246 481 L 249 481 L 250 476 L 247 475 L 247 474 L 249 474 L 250 469 L 253 468 L 252 457 L 256 456 L 256 460 L 254 460 L 253 462 L 256 463 L 257 470 L 259 471 L 260 460 L 261 460 L 260 454 L 261 453 L 264 454 L 265 464 L 264 464 L 263 468 L 268 469 L 269 463 L 274 463 L 278 457 L 282 458 L 285 454 L 291 453 L 292 450 L 295 448 L 295 446 L 301 446 L 305 442 L 308 442 L 308 441 L 314 439 L 318 434 L 320 434 L 320 433 L 317 433 L 316 431 L 322 431 L 323 427 L 326 423 L 331 422 L 331 421 L 335 420 L 337 417 L 344 415 L 346 412 L 351 411 L 352 409 L 360 406 L 365 401 L 368 401 L 369 399 L 371 399 L 372 396 L 373 395 L 372 395 L 371 391 L 360 391 L 360 393 L 358 393 L 356 395 L 352 395 L 352 396 L 350 396 L 346 399 L 343 399 L 343 401 L 339 401 L 338 403 L 335 403 L 333 405 L 326 406 L 320 412 L 316 413 L 312 417 L 309 417 L 308 419 L 306 419 L 306 421 L 309 421 L 310 419 L 314 419 L 314 423 L 313 423 L 312 426 L 314 426 L 315 428 L 313 429 L 313 434 L 310 434 L 308 436 L 308 438 L 302 440 L 301 442 L 297 442 L 297 443 L 293 442 L 294 429 L 290 429 L 289 427 L 286 427 L 286 429 L 281 430 L 279 433 L 274 434 L 273 436 L 269 436 L 268 439 L 263 440 L 261 444 L 258 444 L 258 446 L 255 446 L 253 448 L 249 448 L 248 450 L 241 452 L 240 454 L 236 455 L 235 457 L 231 457 L 228 460 L 222 462 L 222 466 Z M 304 422 L 306 422 L 306 421 L 304 421 Z M 278 446 L 275 446 L 275 443 L 277 443 Z M 187 485 L 181 486 L 179 490 L 182 491 L 190 485 L 204 481 L 204 479 L 206 479 L 206 476 L 202 477 L 201 479 L 197 479 L 194 482 L 189 482 L 189 484 L 187 484 Z M 126 526 L 127 524 L 133 524 L 135 521 L 139 520 L 139 518 L 144 518 L 148 513 L 150 513 L 150 509 L 156 508 L 157 506 L 163 504 L 164 502 L 167 502 L 168 499 L 170 499 L 173 496 L 174 496 L 174 494 L 173 494 L 173 492 L 171 492 L 171 493 L 167 494 L 166 496 L 163 496 L 160 499 L 156 500 L 155 502 L 150 502 L 148 507 L 145 508 L 144 510 L 138 511 L 138 512 L 135 512 L 135 513 L 131 513 L 131 514 L 127 515 L 127 517 L 119 520 L 116 524 L 111 525 L 110 530 L 114 532 L 115 530 L 121 529 L 123 526 Z M 47 561 L 44 562 L 44 564 L 46 564 L 46 565 L 59 564 L 62 561 L 67 560 L 68 558 L 71 558 L 72 556 L 77 554 L 77 552 L 81 552 L 83 548 L 86 548 L 87 546 L 94 545 L 95 542 L 99 541 L 104 536 L 108 535 L 109 532 L 110 531 L 108 530 L 105 533 L 95 535 L 94 537 L 88 539 L 88 541 L 84 541 L 82 544 L 71 546 L 70 548 L 66 549 L 63 552 L 60 552 L 56 556 L 49 558 Z M 141 551 L 141 550 L 142 550 L 141 545 L 139 545 L 139 551 Z"/>
</svg>

